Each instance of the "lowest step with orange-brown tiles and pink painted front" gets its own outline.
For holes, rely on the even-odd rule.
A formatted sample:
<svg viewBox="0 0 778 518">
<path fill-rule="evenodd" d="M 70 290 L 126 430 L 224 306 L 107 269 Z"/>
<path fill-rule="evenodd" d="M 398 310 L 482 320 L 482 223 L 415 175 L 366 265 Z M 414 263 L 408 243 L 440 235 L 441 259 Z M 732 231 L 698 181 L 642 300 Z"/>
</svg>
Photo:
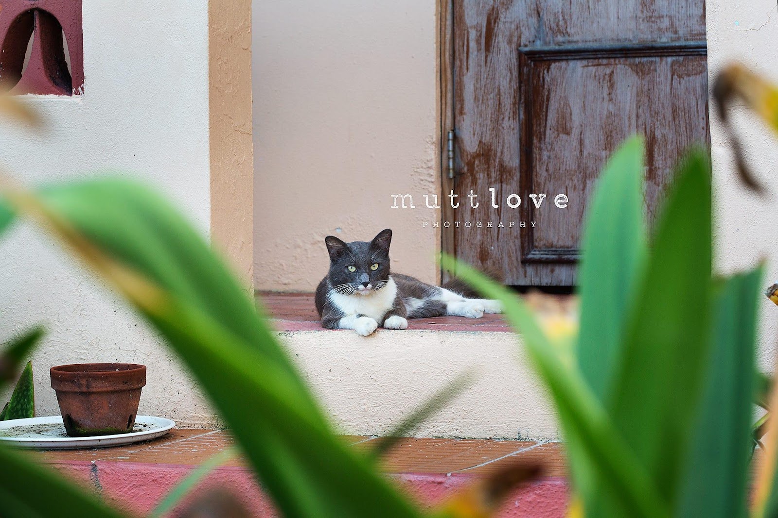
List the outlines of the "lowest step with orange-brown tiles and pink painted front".
<svg viewBox="0 0 778 518">
<path fill-rule="evenodd" d="M 355 450 L 368 450 L 373 437 L 345 436 Z M 191 470 L 230 446 L 220 430 L 175 429 L 149 443 L 102 450 L 38 452 L 44 464 L 61 471 L 115 506 L 130 513 L 148 513 Z M 384 471 L 422 505 L 431 506 L 464 485 L 510 464 L 541 462 L 544 476 L 506 499 L 498 516 L 565 516 L 567 484 L 559 443 L 505 440 L 401 440 L 387 454 Z M 196 492 L 222 488 L 232 492 L 255 516 L 275 516 L 254 475 L 240 458 L 216 468 Z"/>
</svg>

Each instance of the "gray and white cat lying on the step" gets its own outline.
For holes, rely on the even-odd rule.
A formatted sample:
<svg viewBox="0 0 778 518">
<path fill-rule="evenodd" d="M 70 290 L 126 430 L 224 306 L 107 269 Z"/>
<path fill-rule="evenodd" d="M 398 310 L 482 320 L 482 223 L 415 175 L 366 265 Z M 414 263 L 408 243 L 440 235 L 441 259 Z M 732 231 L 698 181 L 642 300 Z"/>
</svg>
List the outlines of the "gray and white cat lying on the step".
<svg viewBox="0 0 778 518">
<path fill-rule="evenodd" d="M 316 288 L 316 309 L 327 329 L 353 329 L 367 336 L 380 325 L 406 329 L 407 318 L 443 315 L 481 318 L 502 313 L 499 301 L 475 295 L 456 281 L 443 287 L 422 283 L 389 269 L 391 230 L 380 231 L 371 242 L 324 239 L 330 254 L 330 271 Z"/>
</svg>

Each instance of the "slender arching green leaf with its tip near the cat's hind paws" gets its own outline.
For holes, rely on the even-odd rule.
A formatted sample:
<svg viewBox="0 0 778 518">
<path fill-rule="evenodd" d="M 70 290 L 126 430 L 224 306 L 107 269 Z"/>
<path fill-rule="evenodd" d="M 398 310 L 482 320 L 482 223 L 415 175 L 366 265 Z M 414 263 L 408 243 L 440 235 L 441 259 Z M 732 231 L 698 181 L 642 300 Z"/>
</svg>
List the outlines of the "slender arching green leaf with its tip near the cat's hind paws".
<svg viewBox="0 0 778 518">
<path fill-rule="evenodd" d="M 669 509 L 643 465 L 614 428 L 605 408 L 591 393 L 578 370 L 566 367 L 556 356 L 556 347 L 538 326 L 534 315 L 515 294 L 475 269 L 443 254 L 441 264 L 485 297 L 499 299 L 510 325 L 521 333 L 534 366 L 554 398 L 566 438 L 574 436 L 580 454 L 602 481 L 601 491 L 619 502 L 623 516 L 668 516 Z"/>
</svg>

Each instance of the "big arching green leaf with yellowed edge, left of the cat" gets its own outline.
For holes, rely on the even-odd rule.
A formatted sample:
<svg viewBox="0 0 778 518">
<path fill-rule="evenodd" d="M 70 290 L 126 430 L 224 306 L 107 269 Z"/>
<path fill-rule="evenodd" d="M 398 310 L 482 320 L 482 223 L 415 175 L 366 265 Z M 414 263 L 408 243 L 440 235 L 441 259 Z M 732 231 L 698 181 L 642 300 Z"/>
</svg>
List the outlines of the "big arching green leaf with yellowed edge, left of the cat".
<svg viewBox="0 0 778 518">
<path fill-rule="evenodd" d="M 286 516 L 419 516 L 347 450 L 254 302 L 164 200 L 124 179 L 7 190 L 168 339 Z M 324 471 L 322 467 L 326 466 Z"/>
</svg>

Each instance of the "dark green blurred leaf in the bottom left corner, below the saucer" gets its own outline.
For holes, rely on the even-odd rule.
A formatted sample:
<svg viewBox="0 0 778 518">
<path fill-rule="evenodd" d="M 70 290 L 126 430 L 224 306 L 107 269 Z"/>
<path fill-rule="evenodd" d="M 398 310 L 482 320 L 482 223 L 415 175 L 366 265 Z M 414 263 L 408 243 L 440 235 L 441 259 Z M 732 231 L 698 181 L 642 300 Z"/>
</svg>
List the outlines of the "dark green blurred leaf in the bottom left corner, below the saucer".
<svg viewBox="0 0 778 518">
<path fill-rule="evenodd" d="M 3 516 L 125 516 L 98 502 L 82 488 L 68 482 L 32 457 L 0 445 L 0 503 Z"/>
</svg>

